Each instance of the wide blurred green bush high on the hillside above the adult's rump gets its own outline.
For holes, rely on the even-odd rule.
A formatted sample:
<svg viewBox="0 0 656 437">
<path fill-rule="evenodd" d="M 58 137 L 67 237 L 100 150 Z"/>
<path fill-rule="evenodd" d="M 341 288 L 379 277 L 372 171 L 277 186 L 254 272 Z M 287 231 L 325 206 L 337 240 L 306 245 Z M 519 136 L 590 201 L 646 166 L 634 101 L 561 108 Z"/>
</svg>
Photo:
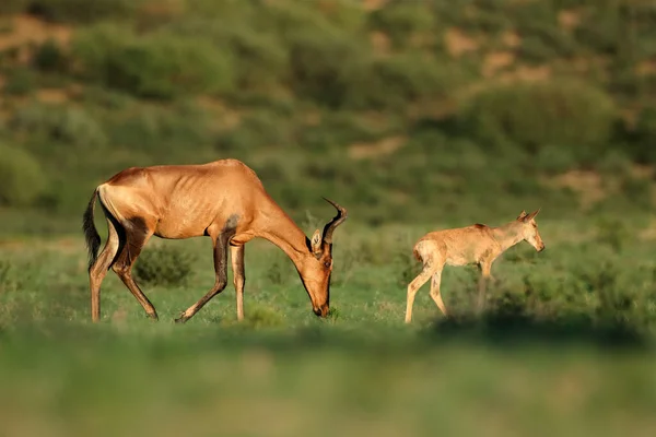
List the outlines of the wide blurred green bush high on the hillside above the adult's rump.
<svg viewBox="0 0 656 437">
<path fill-rule="evenodd" d="M 73 57 L 82 78 L 147 98 L 229 91 L 234 79 L 230 57 L 206 40 L 107 24 L 81 32 Z"/>
</svg>

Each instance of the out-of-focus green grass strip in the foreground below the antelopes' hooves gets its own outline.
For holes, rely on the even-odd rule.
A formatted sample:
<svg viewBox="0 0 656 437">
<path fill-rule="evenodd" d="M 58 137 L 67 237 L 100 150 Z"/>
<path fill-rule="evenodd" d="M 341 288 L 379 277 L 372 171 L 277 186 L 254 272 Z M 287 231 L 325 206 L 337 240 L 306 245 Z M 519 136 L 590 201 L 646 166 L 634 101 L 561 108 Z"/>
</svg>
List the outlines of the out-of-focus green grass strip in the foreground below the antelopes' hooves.
<svg viewBox="0 0 656 437">
<path fill-rule="evenodd" d="M 656 430 L 652 352 L 445 342 L 400 327 L 371 335 L 326 327 L 235 335 L 236 328 L 145 321 L 128 332 L 82 324 L 3 334 L 2 435 Z"/>
</svg>

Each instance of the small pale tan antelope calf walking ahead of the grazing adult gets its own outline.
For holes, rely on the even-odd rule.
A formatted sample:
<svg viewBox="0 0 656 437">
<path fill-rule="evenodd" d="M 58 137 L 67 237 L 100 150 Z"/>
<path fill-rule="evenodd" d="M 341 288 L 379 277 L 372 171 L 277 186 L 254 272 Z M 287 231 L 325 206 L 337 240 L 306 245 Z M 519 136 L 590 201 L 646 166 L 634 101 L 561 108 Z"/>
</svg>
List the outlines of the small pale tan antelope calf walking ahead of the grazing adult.
<svg viewBox="0 0 656 437">
<path fill-rule="evenodd" d="M 528 241 L 539 252 L 544 250 L 544 243 L 536 223 L 539 212 L 539 209 L 530 214 L 522 211 L 516 220 L 499 227 L 477 223 L 467 227 L 432 232 L 421 237 L 414 245 L 413 253 L 417 260 L 423 263 L 423 270 L 408 285 L 406 323 L 412 320 L 414 295 L 431 276 L 431 297 L 437 308 L 447 316 L 440 292 L 445 264 L 478 264 L 481 271 L 478 303 L 480 310 L 484 302 L 487 282 L 492 277 L 490 270 L 496 258 L 520 241 Z"/>
</svg>

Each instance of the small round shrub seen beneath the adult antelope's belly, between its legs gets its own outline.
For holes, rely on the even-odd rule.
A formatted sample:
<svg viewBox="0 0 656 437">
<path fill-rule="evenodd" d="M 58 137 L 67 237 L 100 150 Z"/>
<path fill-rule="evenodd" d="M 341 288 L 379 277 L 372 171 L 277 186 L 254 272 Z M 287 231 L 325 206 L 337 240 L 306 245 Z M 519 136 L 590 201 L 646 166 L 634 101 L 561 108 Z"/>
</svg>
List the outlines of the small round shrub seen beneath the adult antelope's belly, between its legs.
<svg viewBox="0 0 656 437">
<path fill-rule="evenodd" d="M 178 286 L 186 284 L 195 258 L 167 246 L 149 247 L 134 263 L 134 277 L 144 285 Z"/>
</svg>

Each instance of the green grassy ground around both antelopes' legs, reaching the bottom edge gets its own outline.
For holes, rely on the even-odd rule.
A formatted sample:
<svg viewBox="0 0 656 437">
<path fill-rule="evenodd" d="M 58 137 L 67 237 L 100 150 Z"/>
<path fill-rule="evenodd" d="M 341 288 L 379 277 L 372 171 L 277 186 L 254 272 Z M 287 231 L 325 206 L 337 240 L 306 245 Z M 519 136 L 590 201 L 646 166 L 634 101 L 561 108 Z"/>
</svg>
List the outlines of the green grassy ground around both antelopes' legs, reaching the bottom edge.
<svg viewBox="0 0 656 437">
<path fill-rule="evenodd" d="M 349 226 L 336 235 L 330 318 L 312 314 L 282 251 L 254 240 L 242 323 L 232 283 L 186 324 L 173 323 L 213 282 L 204 238 L 147 246 L 195 260 L 186 286 L 143 286 L 159 322 L 110 272 L 98 324 L 90 321 L 81 236 L 7 239 L 0 434 L 656 430 L 656 264 L 633 237 L 640 228 L 613 245 L 609 225 L 542 220 L 548 250 L 523 244 L 497 261 L 484 319 L 470 317 L 475 269 L 447 268 L 443 295 L 455 318 L 442 318 L 426 285 L 406 326 L 406 255 L 427 228 Z"/>
</svg>

